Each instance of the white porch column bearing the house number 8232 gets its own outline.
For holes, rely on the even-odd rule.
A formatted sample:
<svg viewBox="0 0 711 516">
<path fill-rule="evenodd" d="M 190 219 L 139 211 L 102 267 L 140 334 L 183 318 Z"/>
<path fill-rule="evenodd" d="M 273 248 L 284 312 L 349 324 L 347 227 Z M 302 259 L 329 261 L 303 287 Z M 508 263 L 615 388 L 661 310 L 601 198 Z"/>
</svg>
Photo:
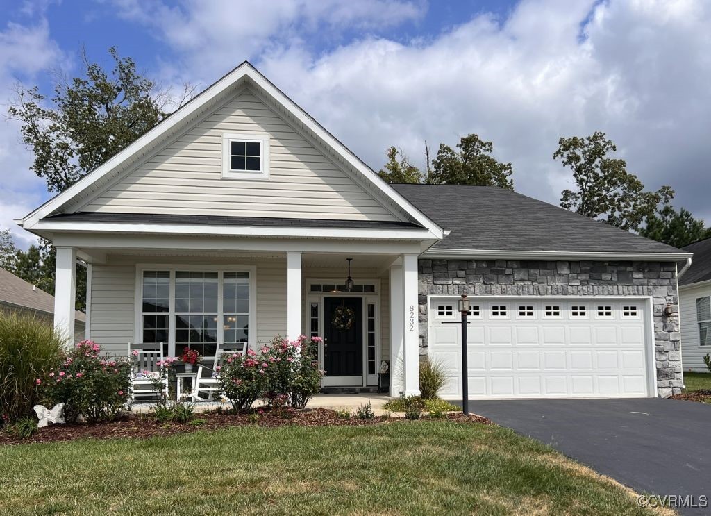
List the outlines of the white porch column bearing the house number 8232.
<svg viewBox="0 0 711 516">
<path fill-rule="evenodd" d="M 402 291 L 405 305 L 405 396 L 411 396 L 419 395 L 417 254 L 402 255 Z"/>
</svg>

